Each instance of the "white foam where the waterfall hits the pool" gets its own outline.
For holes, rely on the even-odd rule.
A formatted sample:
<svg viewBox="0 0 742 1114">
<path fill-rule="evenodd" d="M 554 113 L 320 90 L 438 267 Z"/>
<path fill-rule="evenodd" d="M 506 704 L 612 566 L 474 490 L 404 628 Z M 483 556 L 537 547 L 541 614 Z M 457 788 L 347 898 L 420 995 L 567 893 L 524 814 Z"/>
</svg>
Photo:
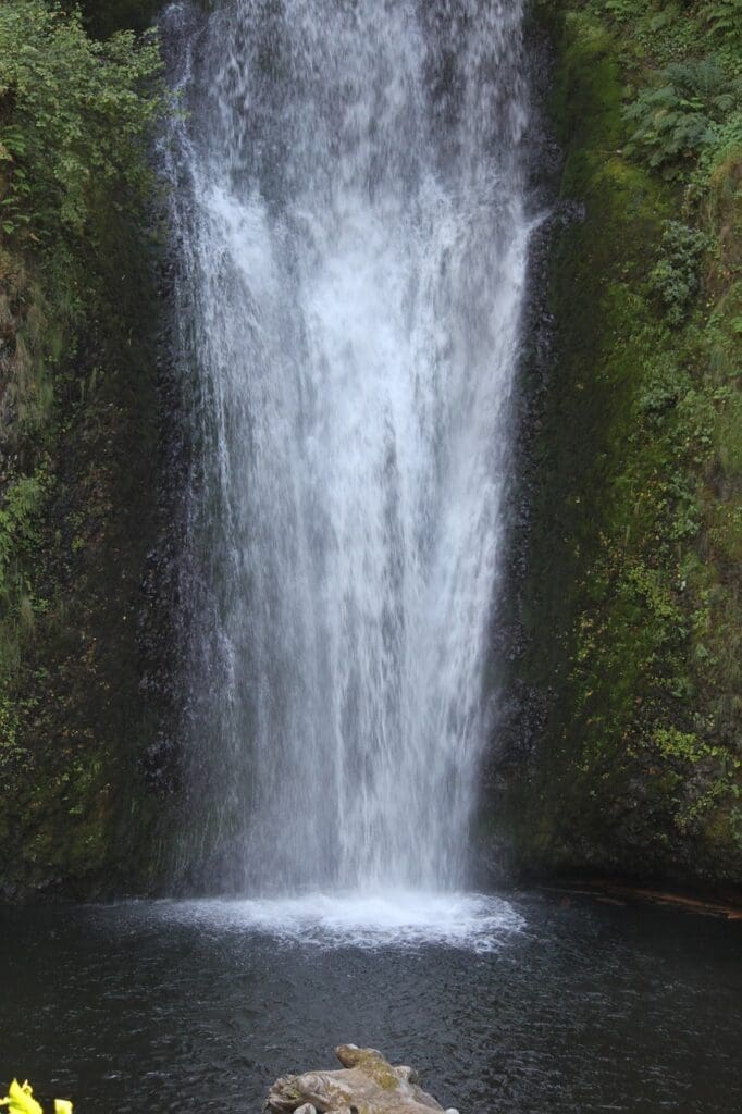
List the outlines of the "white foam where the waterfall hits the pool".
<svg viewBox="0 0 742 1114">
<path fill-rule="evenodd" d="M 154 908 L 163 919 L 207 931 L 255 932 L 322 948 L 437 945 L 488 952 L 525 926 L 502 898 L 418 890 L 160 901 Z"/>
</svg>

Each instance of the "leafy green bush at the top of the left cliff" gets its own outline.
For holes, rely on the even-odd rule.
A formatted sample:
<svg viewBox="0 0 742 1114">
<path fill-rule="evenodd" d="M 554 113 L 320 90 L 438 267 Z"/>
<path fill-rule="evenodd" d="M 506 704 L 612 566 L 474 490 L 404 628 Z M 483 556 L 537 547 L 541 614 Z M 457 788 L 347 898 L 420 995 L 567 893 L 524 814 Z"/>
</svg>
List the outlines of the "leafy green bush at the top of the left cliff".
<svg viewBox="0 0 742 1114">
<path fill-rule="evenodd" d="M 81 236 L 101 194 L 137 204 L 163 100 L 156 41 L 105 43 L 79 12 L 43 0 L 0 4 L 0 206 L 8 235 Z"/>
</svg>

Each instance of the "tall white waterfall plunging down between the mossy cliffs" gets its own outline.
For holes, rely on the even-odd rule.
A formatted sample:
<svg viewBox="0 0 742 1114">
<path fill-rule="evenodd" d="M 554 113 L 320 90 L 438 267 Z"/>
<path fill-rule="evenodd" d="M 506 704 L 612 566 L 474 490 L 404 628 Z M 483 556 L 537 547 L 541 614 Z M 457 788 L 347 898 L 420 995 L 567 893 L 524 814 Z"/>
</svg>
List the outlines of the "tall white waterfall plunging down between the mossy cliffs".
<svg viewBox="0 0 742 1114">
<path fill-rule="evenodd" d="M 202 886 L 463 881 L 529 231 L 520 21 L 164 18 Z"/>
</svg>

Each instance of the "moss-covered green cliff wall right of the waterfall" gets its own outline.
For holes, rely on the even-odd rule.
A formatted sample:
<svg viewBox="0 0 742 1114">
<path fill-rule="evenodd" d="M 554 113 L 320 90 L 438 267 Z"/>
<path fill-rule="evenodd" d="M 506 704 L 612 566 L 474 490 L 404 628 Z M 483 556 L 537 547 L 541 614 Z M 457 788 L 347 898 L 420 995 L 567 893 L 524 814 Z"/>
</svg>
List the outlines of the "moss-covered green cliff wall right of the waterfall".
<svg viewBox="0 0 742 1114">
<path fill-rule="evenodd" d="M 564 162 L 543 283 L 550 351 L 524 372 L 519 653 L 486 817 L 525 872 L 742 882 L 732 9 L 531 12 L 553 43 Z"/>
</svg>

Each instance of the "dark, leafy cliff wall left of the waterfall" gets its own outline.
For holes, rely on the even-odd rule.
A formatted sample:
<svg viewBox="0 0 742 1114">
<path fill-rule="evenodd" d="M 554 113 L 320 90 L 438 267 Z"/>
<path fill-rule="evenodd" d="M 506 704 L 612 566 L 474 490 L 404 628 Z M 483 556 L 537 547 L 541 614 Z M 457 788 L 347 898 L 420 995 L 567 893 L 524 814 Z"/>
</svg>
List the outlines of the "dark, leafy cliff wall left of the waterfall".
<svg viewBox="0 0 742 1114">
<path fill-rule="evenodd" d="M 0 6 L 0 893 L 10 897 L 126 886 L 157 811 L 148 755 L 160 710 L 143 691 L 139 615 L 158 531 L 147 167 L 158 69 L 154 40 L 126 32 L 104 45 L 53 3 Z"/>
</svg>

